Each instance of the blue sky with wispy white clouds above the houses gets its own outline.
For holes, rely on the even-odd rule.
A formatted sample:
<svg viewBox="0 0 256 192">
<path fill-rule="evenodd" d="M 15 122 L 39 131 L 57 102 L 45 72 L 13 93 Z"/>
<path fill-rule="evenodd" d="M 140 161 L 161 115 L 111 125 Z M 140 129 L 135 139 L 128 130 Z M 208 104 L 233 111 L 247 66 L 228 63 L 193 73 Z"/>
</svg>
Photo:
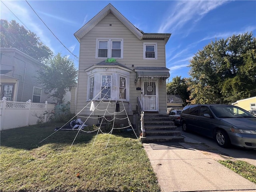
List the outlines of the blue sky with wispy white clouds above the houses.
<svg viewBox="0 0 256 192">
<path fill-rule="evenodd" d="M 170 80 L 189 77 L 188 64 L 194 54 L 215 39 L 252 32 L 256 35 L 256 1 L 4 1 L 0 17 L 16 20 L 6 6 L 55 54 L 69 56 L 78 67 L 79 42 L 74 33 L 111 3 L 134 26 L 145 33 L 171 33 L 166 44 L 166 67 Z"/>
</svg>

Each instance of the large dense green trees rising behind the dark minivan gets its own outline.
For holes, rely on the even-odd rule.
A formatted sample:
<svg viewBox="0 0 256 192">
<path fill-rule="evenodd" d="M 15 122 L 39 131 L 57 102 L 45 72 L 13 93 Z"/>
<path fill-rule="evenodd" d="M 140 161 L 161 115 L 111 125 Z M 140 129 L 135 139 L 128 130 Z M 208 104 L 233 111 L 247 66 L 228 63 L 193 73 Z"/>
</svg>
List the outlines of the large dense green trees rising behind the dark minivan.
<svg viewBox="0 0 256 192">
<path fill-rule="evenodd" d="M 256 96 L 256 38 L 233 35 L 206 45 L 190 60 L 190 103 L 232 103 Z"/>
</svg>

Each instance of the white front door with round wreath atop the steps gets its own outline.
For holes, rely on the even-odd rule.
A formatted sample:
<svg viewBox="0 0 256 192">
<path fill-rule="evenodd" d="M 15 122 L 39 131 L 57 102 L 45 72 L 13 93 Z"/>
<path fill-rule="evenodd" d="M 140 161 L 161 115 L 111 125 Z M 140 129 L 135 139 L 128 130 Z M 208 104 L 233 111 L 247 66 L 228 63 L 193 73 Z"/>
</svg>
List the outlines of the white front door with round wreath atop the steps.
<svg viewBox="0 0 256 192">
<path fill-rule="evenodd" d="M 144 111 L 158 111 L 158 84 L 155 81 L 144 81 L 142 90 Z"/>
</svg>

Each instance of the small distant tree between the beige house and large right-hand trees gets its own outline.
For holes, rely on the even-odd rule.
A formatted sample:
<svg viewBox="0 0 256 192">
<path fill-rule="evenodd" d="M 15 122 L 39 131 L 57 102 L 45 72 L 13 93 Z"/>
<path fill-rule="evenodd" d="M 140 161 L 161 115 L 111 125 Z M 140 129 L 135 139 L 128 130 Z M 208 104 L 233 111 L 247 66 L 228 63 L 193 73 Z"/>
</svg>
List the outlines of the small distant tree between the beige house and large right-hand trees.
<svg viewBox="0 0 256 192">
<path fill-rule="evenodd" d="M 167 94 L 178 94 L 180 98 L 187 104 L 187 100 L 189 99 L 190 92 L 187 90 L 188 85 L 186 82 L 186 78 L 181 78 L 181 76 L 176 76 L 172 78 L 171 82 L 168 82 L 166 85 Z"/>
</svg>

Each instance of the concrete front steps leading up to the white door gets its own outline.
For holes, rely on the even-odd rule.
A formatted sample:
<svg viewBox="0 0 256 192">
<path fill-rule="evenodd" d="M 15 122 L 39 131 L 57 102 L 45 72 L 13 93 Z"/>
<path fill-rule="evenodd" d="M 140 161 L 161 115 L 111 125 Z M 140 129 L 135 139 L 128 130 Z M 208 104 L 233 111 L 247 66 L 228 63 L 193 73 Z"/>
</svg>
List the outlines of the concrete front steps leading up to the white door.
<svg viewBox="0 0 256 192">
<path fill-rule="evenodd" d="M 142 143 L 153 142 L 184 142 L 184 137 L 168 114 L 144 113 L 145 137 L 140 137 Z"/>
</svg>

